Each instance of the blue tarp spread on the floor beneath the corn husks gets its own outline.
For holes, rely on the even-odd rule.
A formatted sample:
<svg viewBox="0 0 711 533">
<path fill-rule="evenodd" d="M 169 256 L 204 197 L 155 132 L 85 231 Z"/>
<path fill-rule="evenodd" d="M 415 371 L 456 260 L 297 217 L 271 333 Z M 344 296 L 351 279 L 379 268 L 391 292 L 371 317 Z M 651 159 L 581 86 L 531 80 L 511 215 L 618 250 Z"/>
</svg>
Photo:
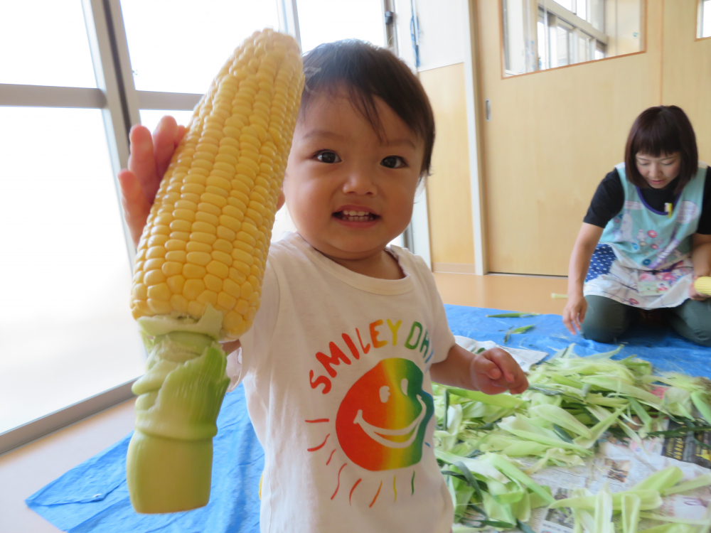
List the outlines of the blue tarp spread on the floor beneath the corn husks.
<svg viewBox="0 0 711 533">
<path fill-rule="evenodd" d="M 445 306 L 455 335 L 493 340 L 503 345 L 506 330 L 535 325 L 523 335 L 510 335 L 508 346 L 548 353 L 576 343 L 578 355 L 607 352 L 610 345 L 570 335 L 560 316 L 486 318 L 496 309 Z M 634 326 L 620 338 L 615 358 L 638 355 L 658 370 L 679 370 L 711 377 L 711 348 L 690 343 L 668 328 Z M 78 465 L 26 500 L 27 505 L 63 531 L 72 533 L 256 533 L 259 531 L 257 488 L 264 451 L 247 416 L 245 392 L 237 387 L 225 397 L 214 439 L 213 485 L 207 507 L 171 515 L 137 515 L 126 486 L 128 435 Z"/>
</svg>

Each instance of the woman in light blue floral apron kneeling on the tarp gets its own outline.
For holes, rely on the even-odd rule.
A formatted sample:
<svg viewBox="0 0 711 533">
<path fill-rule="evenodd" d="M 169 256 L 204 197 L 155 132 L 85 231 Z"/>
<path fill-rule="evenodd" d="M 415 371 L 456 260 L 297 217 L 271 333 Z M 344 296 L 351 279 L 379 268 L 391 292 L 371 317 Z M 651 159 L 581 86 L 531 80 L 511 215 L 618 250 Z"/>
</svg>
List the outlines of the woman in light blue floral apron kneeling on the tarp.
<svg viewBox="0 0 711 533">
<path fill-rule="evenodd" d="M 639 311 L 665 308 L 680 335 L 711 346 L 711 300 L 693 285 L 711 273 L 710 182 L 682 109 L 636 118 L 624 163 L 598 186 L 570 256 L 571 333 L 612 343 Z"/>
</svg>

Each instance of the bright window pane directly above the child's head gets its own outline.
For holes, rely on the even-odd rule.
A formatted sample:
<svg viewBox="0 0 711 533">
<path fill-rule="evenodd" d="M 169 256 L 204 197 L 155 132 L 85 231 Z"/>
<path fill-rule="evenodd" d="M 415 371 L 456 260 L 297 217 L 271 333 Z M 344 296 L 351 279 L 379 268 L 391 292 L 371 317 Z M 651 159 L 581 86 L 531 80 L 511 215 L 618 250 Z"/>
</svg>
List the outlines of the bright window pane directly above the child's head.
<svg viewBox="0 0 711 533">
<path fill-rule="evenodd" d="M 352 38 L 385 45 L 381 0 L 297 0 L 296 7 L 304 52 Z"/>
</svg>

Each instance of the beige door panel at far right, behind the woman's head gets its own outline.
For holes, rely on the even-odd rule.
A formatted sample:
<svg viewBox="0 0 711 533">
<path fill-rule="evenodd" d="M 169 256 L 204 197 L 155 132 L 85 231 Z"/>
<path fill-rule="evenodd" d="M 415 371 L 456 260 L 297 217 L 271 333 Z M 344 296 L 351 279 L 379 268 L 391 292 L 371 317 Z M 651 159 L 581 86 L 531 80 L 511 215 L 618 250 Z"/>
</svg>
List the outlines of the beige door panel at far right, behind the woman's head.
<svg viewBox="0 0 711 533">
<path fill-rule="evenodd" d="M 696 38 L 697 0 L 667 0 L 664 7 L 662 103 L 688 114 L 699 158 L 711 163 L 711 38 Z"/>
</svg>

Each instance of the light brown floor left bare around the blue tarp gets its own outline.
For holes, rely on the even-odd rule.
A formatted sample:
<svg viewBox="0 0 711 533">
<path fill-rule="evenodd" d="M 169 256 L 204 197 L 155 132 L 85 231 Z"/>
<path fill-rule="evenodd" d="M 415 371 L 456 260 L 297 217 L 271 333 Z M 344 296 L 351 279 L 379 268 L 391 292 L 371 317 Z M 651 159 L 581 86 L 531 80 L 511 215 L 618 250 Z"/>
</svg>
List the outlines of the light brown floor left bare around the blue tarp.
<svg viewBox="0 0 711 533">
<path fill-rule="evenodd" d="M 434 274 L 444 303 L 560 314 L 566 292 L 562 278 L 538 276 Z M 0 456 L 0 532 L 55 533 L 25 505 L 25 498 L 70 468 L 95 456 L 133 429 L 134 400 L 119 404 Z"/>
</svg>

